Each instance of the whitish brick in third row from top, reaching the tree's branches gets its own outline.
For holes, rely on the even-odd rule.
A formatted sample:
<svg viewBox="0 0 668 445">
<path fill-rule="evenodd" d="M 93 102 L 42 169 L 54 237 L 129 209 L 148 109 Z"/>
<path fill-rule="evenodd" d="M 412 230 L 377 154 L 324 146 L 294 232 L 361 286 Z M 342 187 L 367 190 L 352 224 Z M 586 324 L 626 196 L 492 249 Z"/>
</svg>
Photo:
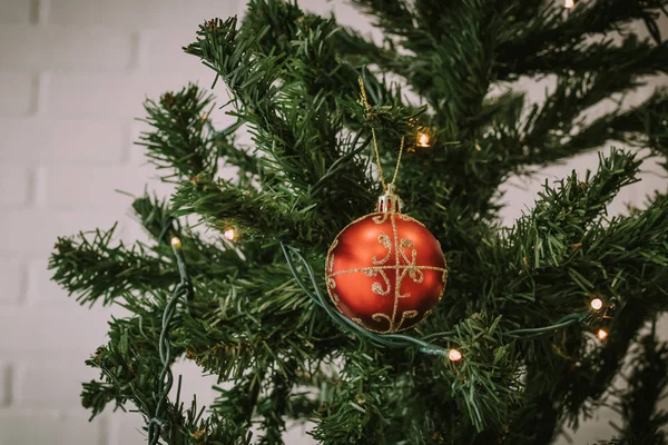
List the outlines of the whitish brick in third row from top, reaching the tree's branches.
<svg viewBox="0 0 668 445">
<path fill-rule="evenodd" d="M 195 62 L 196 63 L 196 62 Z M 213 73 L 207 83 L 213 80 Z M 49 116 L 88 118 L 146 116 L 143 103 L 158 100 L 166 91 L 179 90 L 198 79 L 188 71 L 170 75 L 53 73 L 45 103 Z M 202 82 L 200 82 L 202 83 Z M 206 83 L 202 83 L 206 85 Z"/>
</svg>

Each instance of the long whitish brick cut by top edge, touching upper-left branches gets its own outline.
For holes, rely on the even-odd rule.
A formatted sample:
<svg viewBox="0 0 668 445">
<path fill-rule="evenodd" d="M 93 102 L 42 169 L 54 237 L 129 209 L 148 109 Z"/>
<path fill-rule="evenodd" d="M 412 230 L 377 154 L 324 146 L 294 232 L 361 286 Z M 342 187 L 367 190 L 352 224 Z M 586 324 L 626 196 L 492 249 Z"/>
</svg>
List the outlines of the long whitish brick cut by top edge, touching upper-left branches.
<svg viewBox="0 0 668 445">
<path fill-rule="evenodd" d="M 50 22 L 105 24 L 125 29 L 186 27 L 193 30 L 206 19 L 237 13 L 238 0 L 52 0 Z"/>
</svg>

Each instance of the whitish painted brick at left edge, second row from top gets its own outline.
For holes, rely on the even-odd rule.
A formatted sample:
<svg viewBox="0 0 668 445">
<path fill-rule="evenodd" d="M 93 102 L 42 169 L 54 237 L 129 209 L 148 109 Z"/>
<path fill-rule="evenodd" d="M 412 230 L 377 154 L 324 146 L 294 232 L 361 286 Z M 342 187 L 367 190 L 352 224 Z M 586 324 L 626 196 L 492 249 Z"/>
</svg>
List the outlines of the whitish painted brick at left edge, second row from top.
<svg viewBox="0 0 668 445">
<path fill-rule="evenodd" d="M 17 70 L 124 69 L 134 43 L 114 28 L 0 26 L 0 59 Z"/>
</svg>

